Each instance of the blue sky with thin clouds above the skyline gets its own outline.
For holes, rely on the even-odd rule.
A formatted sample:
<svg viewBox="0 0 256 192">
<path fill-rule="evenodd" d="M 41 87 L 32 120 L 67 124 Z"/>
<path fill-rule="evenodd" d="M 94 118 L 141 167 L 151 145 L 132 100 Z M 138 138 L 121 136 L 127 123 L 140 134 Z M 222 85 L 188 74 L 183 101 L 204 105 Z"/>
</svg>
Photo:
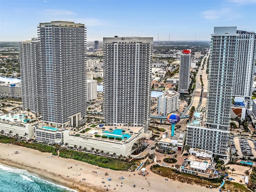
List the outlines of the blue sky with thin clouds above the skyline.
<svg viewBox="0 0 256 192">
<path fill-rule="evenodd" d="M 30 40 L 54 20 L 85 24 L 88 41 L 210 40 L 214 26 L 256 32 L 256 0 L 0 0 L 0 41 Z"/>
</svg>

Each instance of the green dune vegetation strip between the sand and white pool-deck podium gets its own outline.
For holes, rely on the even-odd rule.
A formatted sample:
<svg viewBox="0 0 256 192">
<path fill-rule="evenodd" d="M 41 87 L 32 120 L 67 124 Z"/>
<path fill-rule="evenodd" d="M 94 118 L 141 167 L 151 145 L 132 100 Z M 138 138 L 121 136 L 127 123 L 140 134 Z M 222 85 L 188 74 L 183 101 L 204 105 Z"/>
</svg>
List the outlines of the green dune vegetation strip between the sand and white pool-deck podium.
<svg viewBox="0 0 256 192">
<path fill-rule="evenodd" d="M 92 154 L 66 149 L 60 150 L 60 157 L 72 158 L 92 165 L 110 168 L 112 170 L 128 170 L 132 165 L 135 164 L 135 162 L 125 162 L 119 159 L 95 156 Z"/>
</svg>

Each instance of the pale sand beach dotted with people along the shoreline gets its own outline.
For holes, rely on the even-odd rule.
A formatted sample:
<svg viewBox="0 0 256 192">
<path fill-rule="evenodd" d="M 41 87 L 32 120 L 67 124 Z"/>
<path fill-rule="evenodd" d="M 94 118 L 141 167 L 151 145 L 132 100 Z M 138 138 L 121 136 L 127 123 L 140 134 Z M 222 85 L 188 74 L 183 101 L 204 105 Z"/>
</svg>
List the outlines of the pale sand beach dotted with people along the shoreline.
<svg viewBox="0 0 256 192">
<path fill-rule="evenodd" d="M 19 151 L 19 154 L 14 154 Z M 197 185 L 180 183 L 150 172 L 144 177 L 138 172 L 115 171 L 107 168 L 99 168 L 72 159 L 58 158 L 50 153 L 42 153 L 37 150 L 16 145 L 0 143 L 0 162 L 17 168 L 35 172 L 44 178 L 54 180 L 64 186 L 76 187 L 76 190 L 84 192 L 102 192 L 108 188 L 111 192 L 213 192 L 218 189 L 210 189 Z M 72 167 L 72 168 L 70 168 Z M 105 176 L 108 172 L 108 176 Z M 135 174 L 135 175 L 134 175 Z M 130 175 L 130 176 L 129 176 Z M 120 179 L 123 176 L 124 179 Z M 111 181 L 108 181 L 111 178 Z M 102 183 L 104 181 L 105 183 Z M 133 185 L 136 187 L 133 187 Z"/>
</svg>

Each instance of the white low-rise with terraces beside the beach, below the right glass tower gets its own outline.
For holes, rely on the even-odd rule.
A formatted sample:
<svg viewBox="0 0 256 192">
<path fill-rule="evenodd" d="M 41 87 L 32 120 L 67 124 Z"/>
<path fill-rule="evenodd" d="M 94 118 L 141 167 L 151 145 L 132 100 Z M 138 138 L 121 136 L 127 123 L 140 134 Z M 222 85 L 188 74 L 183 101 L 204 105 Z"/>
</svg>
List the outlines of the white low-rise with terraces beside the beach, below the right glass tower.
<svg viewBox="0 0 256 192">
<path fill-rule="evenodd" d="M 181 166 L 181 172 L 203 177 L 212 177 L 214 174 L 213 156 L 209 150 L 190 148 L 188 159 Z"/>
</svg>

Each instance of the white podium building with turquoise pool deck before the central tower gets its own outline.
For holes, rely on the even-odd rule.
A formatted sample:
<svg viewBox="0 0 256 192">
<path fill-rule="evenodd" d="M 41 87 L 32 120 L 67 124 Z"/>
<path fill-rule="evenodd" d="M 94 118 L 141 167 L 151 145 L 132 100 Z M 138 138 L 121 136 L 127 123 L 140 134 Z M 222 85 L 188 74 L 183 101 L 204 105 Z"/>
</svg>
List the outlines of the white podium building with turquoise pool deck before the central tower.
<svg viewBox="0 0 256 192">
<path fill-rule="evenodd" d="M 95 128 L 90 127 L 87 131 L 84 129 L 84 132 L 80 131 L 79 134 L 65 130 L 63 142 L 68 143 L 68 146 L 76 145 L 88 150 L 94 148 L 109 154 L 129 156 L 134 151 L 134 143 L 144 137 L 144 129 L 145 127 L 130 126 L 128 129 L 128 126 L 98 125 Z"/>
</svg>

